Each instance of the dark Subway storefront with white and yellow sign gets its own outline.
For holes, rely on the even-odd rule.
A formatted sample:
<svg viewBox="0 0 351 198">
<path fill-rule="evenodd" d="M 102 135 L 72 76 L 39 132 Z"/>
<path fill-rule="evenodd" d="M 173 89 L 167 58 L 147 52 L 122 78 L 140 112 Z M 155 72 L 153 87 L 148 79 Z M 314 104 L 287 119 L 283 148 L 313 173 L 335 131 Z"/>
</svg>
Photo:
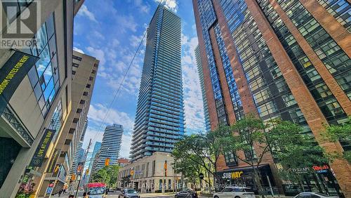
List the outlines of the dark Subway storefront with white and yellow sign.
<svg viewBox="0 0 351 198">
<path fill-rule="evenodd" d="M 254 171 L 251 166 L 236 169 L 227 169 L 216 173 L 216 190 L 223 190 L 228 186 L 249 187 L 253 192 L 258 193 L 258 187 L 254 183 Z M 270 194 L 270 187 L 274 193 L 278 193 L 276 184 L 269 164 L 258 167 L 260 183 L 266 194 Z"/>
</svg>

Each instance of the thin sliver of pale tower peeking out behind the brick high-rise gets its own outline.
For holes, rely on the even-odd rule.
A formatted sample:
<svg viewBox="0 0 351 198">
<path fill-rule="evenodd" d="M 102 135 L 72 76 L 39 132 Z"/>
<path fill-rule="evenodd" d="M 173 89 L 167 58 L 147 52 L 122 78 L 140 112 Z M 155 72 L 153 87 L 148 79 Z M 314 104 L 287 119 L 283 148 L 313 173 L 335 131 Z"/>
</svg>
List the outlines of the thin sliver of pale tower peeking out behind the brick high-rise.
<svg viewBox="0 0 351 198">
<path fill-rule="evenodd" d="M 207 100 L 206 100 L 206 90 L 205 90 L 205 82 L 204 82 L 204 72 L 203 72 L 203 70 L 202 70 L 202 64 L 201 64 L 201 56 L 200 56 L 200 48 L 199 48 L 199 45 L 195 48 L 195 58 L 196 58 L 196 60 L 197 60 L 197 71 L 199 72 L 199 79 L 200 79 L 202 100 L 203 100 L 203 103 L 204 103 L 205 128 L 206 128 L 206 131 L 211 131 L 210 117 L 209 117 L 209 115 L 208 115 L 208 107 L 207 107 Z"/>
</svg>

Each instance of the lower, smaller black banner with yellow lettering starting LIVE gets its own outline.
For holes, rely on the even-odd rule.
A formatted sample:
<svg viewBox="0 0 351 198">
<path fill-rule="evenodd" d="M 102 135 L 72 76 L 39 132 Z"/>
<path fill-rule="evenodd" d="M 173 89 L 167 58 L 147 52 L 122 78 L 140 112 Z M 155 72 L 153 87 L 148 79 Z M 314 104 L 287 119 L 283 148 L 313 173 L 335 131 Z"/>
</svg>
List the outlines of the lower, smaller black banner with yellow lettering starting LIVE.
<svg viewBox="0 0 351 198">
<path fill-rule="evenodd" d="M 55 134 L 56 130 L 53 129 L 46 129 L 44 132 L 43 138 L 41 138 L 39 146 L 34 153 L 32 161 L 30 162 L 29 166 L 41 166 L 43 163 L 46 151 L 48 150 L 48 145 L 50 145 L 51 140 L 53 139 L 53 135 Z"/>
</svg>

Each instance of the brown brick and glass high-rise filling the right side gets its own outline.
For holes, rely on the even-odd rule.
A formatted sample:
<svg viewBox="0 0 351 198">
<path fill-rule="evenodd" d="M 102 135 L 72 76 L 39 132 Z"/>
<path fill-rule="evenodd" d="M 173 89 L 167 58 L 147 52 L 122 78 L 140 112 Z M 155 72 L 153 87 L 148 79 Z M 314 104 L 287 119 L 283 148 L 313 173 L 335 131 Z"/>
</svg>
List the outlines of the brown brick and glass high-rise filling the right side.
<svg viewBox="0 0 351 198">
<path fill-rule="evenodd" d="M 351 149 L 321 135 L 326 126 L 342 124 L 351 115 L 348 1 L 192 2 L 211 129 L 253 114 L 265 122 L 280 118 L 303 126 L 326 152 Z M 287 192 L 274 162 L 267 154 L 261 181 L 267 185 L 268 176 L 279 192 Z M 233 155 L 221 157 L 218 174 L 244 166 Z M 310 186 L 312 190 L 350 197 L 347 161 L 337 159 L 325 167 L 329 166 L 315 172 L 319 179 L 306 177 L 303 183 L 319 186 Z M 250 172 L 244 171 L 240 181 L 220 182 L 248 185 Z"/>
</svg>

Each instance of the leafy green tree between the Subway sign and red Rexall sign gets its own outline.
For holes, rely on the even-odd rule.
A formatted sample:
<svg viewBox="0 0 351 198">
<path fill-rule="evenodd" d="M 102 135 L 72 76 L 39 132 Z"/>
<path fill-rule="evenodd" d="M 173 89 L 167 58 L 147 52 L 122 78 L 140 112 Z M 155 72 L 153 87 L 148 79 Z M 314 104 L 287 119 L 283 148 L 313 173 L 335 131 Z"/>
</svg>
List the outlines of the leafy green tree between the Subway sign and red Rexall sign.
<svg viewBox="0 0 351 198">
<path fill-rule="evenodd" d="M 297 181 L 305 191 L 301 172 L 314 174 L 310 167 L 326 164 L 330 158 L 324 154 L 313 136 L 303 134 L 303 128 L 291 121 L 277 119 L 271 121 L 267 128 L 270 128 L 266 138 L 271 152 L 284 167 L 279 170 L 279 174 L 284 179 Z"/>
</svg>

